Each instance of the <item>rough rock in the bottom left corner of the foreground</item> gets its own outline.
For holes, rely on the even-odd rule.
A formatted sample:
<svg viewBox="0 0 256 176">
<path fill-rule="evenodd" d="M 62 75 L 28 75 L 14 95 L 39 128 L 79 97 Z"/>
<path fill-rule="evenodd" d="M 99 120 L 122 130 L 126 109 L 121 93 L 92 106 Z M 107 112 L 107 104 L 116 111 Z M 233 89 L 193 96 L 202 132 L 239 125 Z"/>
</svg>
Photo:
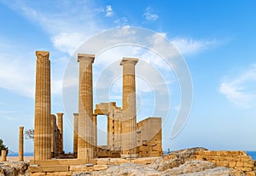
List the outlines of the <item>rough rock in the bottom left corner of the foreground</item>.
<svg viewBox="0 0 256 176">
<path fill-rule="evenodd" d="M 28 175 L 28 162 L 0 162 L 0 176 Z"/>
</svg>

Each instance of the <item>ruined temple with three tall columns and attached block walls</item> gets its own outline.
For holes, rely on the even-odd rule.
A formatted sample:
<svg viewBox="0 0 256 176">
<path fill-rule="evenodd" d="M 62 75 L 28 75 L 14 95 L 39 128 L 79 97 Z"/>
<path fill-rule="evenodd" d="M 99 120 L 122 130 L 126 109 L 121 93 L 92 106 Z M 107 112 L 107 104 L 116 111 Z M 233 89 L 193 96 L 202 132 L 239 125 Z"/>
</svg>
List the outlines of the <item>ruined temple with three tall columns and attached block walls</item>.
<svg viewBox="0 0 256 176">
<path fill-rule="evenodd" d="M 95 163 L 98 157 L 137 158 L 162 155 L 161 118 L 137 123 L 136 76 L 138 59 L 123 58 L 123 107 L 101 103 L 93 110 L 92 65 L 94 54 L 78 54 L 79 113 L 73 114 L 73 154 L 63 150 L 63 113 L 51 112 L 49 52 L 36 51 L 34 164 L 66 159 L 67 166 Z M 108 116 L 108 145 L 97 145 L 97 115 Z M 67 158 L 73 158 L 68 161 Z M 76 160 L 74 160 L 76 158 Z M 76 161 L 76 162 L 74 162 Z M 56 163 L 56 165 L 61 165 Z"/>
</svg>

